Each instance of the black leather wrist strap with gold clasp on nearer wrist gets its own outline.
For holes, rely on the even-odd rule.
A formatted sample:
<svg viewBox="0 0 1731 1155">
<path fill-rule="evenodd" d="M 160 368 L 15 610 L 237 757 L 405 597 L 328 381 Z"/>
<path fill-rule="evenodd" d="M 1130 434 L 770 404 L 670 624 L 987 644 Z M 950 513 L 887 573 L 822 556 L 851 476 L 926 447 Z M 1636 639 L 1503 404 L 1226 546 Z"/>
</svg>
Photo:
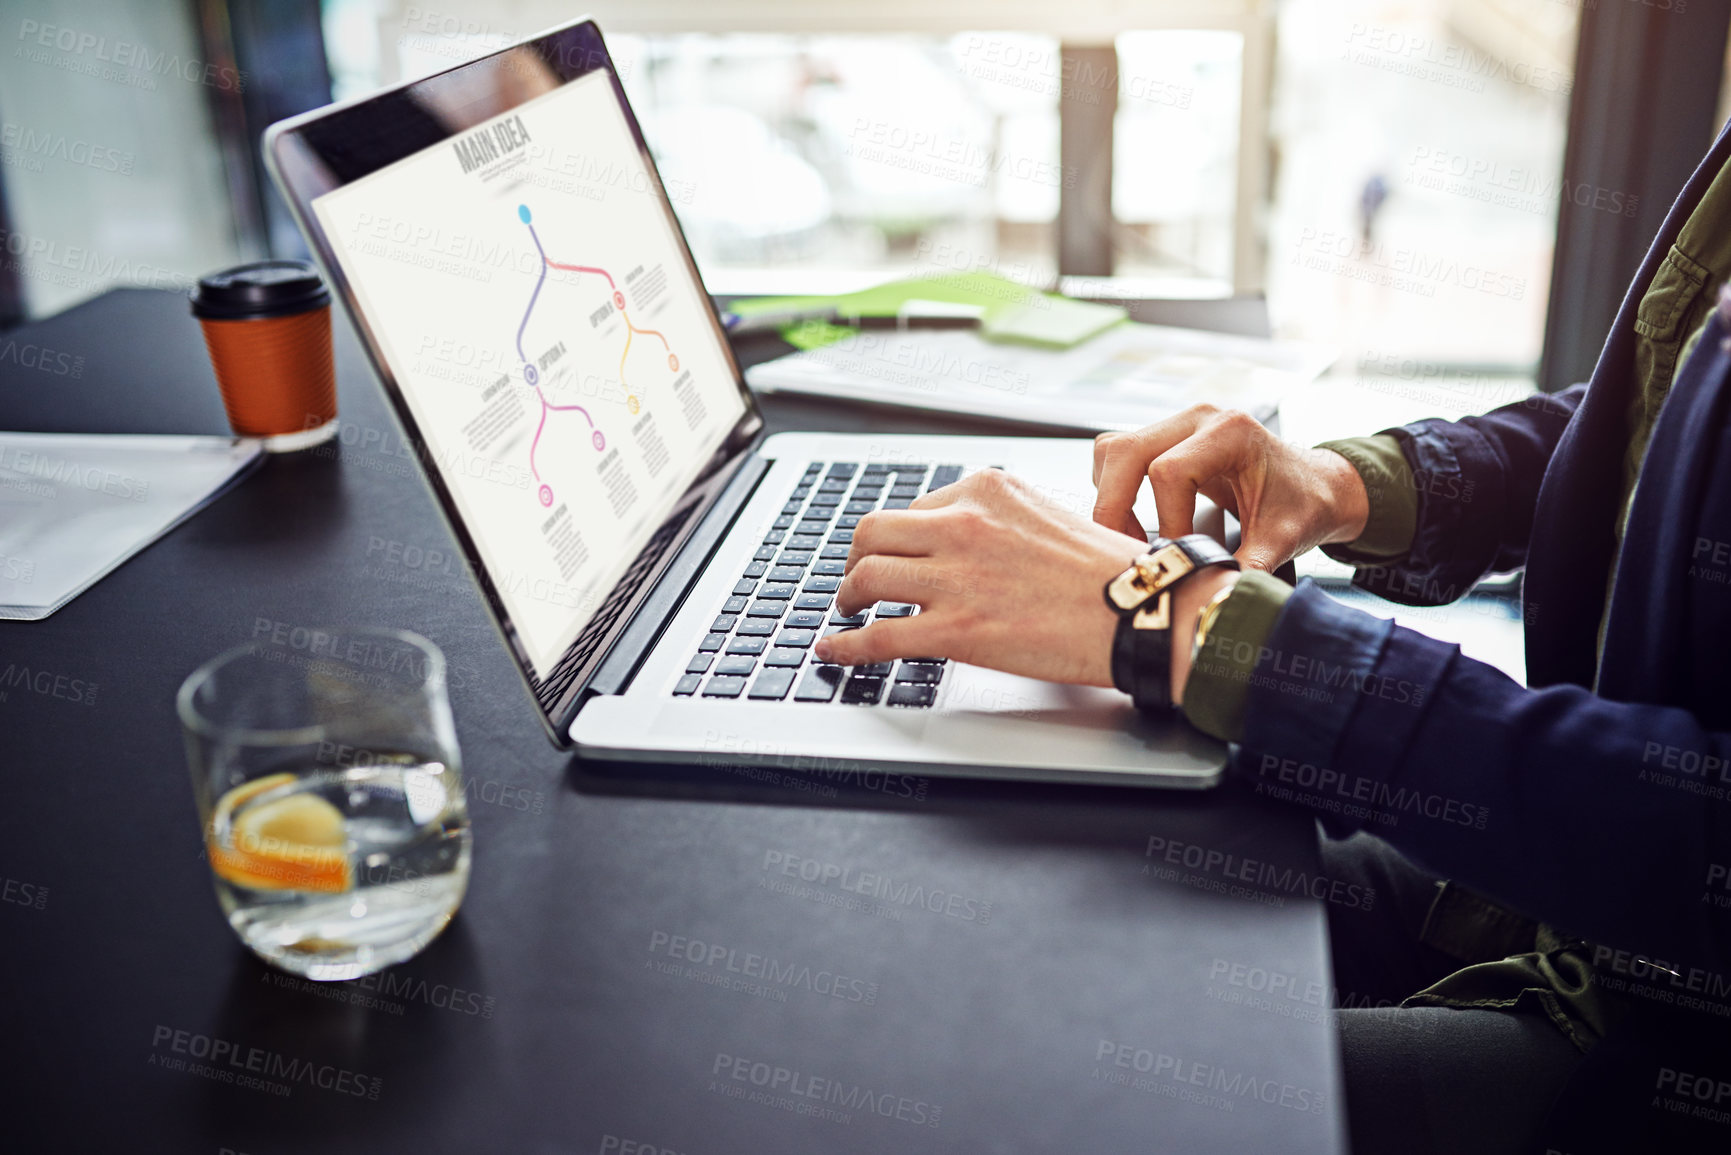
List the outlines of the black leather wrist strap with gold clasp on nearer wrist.
<svg viewBox="0 0 1731 1155">
<path fill-rule="evenodd" d="M 1172 708 L 1172 590 L 1208 566 L 1238 559 L 1205 533 L 1170 542 L 1156 537 L 1130 568 L 1106 582 L 1106 604 L 1118 615 L 1111 641 L 1111 681 L 1139 710 Z"/>
</svg>

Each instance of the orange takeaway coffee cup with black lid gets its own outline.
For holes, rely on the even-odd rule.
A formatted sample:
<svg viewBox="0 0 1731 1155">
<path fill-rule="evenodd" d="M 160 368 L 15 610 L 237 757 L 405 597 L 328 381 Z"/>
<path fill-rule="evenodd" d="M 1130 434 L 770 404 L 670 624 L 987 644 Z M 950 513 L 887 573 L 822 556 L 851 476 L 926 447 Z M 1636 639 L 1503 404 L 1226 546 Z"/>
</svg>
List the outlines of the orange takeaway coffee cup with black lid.
<svg viewBox="0 0 1731 1155">
<path fill-rule="evenodd" d="M 331 291 L 305 261 L 256 261 L 211 274 L 192 293 L 228 426 L 270 452 L 336 435 Z"/>
</svg>

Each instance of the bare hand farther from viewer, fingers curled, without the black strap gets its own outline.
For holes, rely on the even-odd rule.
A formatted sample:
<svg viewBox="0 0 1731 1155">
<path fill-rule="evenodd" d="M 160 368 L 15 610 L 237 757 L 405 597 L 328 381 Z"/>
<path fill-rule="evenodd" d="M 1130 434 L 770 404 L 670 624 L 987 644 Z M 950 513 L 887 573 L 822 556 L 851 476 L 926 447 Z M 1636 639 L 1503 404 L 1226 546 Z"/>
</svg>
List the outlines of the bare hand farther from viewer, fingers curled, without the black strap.
<svg viewBox="0 0 1731 1155">
<path fill-rule="evenodd" d="M 1196 494 L 1238 518 L 1238 561 L 1274 570 L 1316 545 L 1364 532 L 1364 480 L 1340 454 L 1302 448 L 1269 433 L 1246 412 L 1193 405 L 1136 433 L 1094 438 L 1094 521 L 1142 535 L 1130 506 L 1148 481 L 1160 535 L 1193 532 Z"/>
</svg>

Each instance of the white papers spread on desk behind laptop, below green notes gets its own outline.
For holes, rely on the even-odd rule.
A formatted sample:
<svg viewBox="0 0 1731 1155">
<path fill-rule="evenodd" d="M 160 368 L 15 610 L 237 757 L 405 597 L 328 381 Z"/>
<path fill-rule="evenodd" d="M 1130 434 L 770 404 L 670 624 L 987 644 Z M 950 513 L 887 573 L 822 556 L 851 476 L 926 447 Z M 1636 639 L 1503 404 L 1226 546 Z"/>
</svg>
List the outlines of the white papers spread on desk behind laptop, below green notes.
<svg viewBox="0 0 1731 1155">
<path fill-rule="evenodd" d="M 872 329 L 753 365 L 763 393 L 936 409 L 1103 433 L 1213 402 L 1258 417 L 1335 362 L 1295 341 L 1120 324 L 1068 350 L 985 341 L 973 331 Z"/>
</svg>

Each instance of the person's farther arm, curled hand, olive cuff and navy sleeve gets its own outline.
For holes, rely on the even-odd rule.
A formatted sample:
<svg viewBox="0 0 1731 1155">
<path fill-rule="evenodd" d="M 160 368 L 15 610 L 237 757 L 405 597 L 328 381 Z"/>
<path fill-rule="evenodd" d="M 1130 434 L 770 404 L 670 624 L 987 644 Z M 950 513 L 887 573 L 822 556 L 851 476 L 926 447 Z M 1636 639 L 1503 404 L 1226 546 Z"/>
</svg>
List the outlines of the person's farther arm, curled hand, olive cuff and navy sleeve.
<svg viewBox="0 0 1731 1155">
<path fill-rule="evenodd" d="M 1478 417 L 1419 421 L 1310 450 L 1286 445 L 1248 414 L 1196 405 L 1096 440 L 1094 519 L 1139 532 L 1130 507 L 1146 483 L 1160 533 L 1181 537 L 1201 494 L 1243 526 L 1245 568 L 1274 570 L 1321 545 L 1361 566 L 1354 582 L 1362 589 L 1402 604 L 1442 604 L 1485 573 L 1525 565 L 1539 483 L 1584 395 L 1577 384 Z M 1367 528 L 1373 549 L 1354 551 Z"/>
</svg>

